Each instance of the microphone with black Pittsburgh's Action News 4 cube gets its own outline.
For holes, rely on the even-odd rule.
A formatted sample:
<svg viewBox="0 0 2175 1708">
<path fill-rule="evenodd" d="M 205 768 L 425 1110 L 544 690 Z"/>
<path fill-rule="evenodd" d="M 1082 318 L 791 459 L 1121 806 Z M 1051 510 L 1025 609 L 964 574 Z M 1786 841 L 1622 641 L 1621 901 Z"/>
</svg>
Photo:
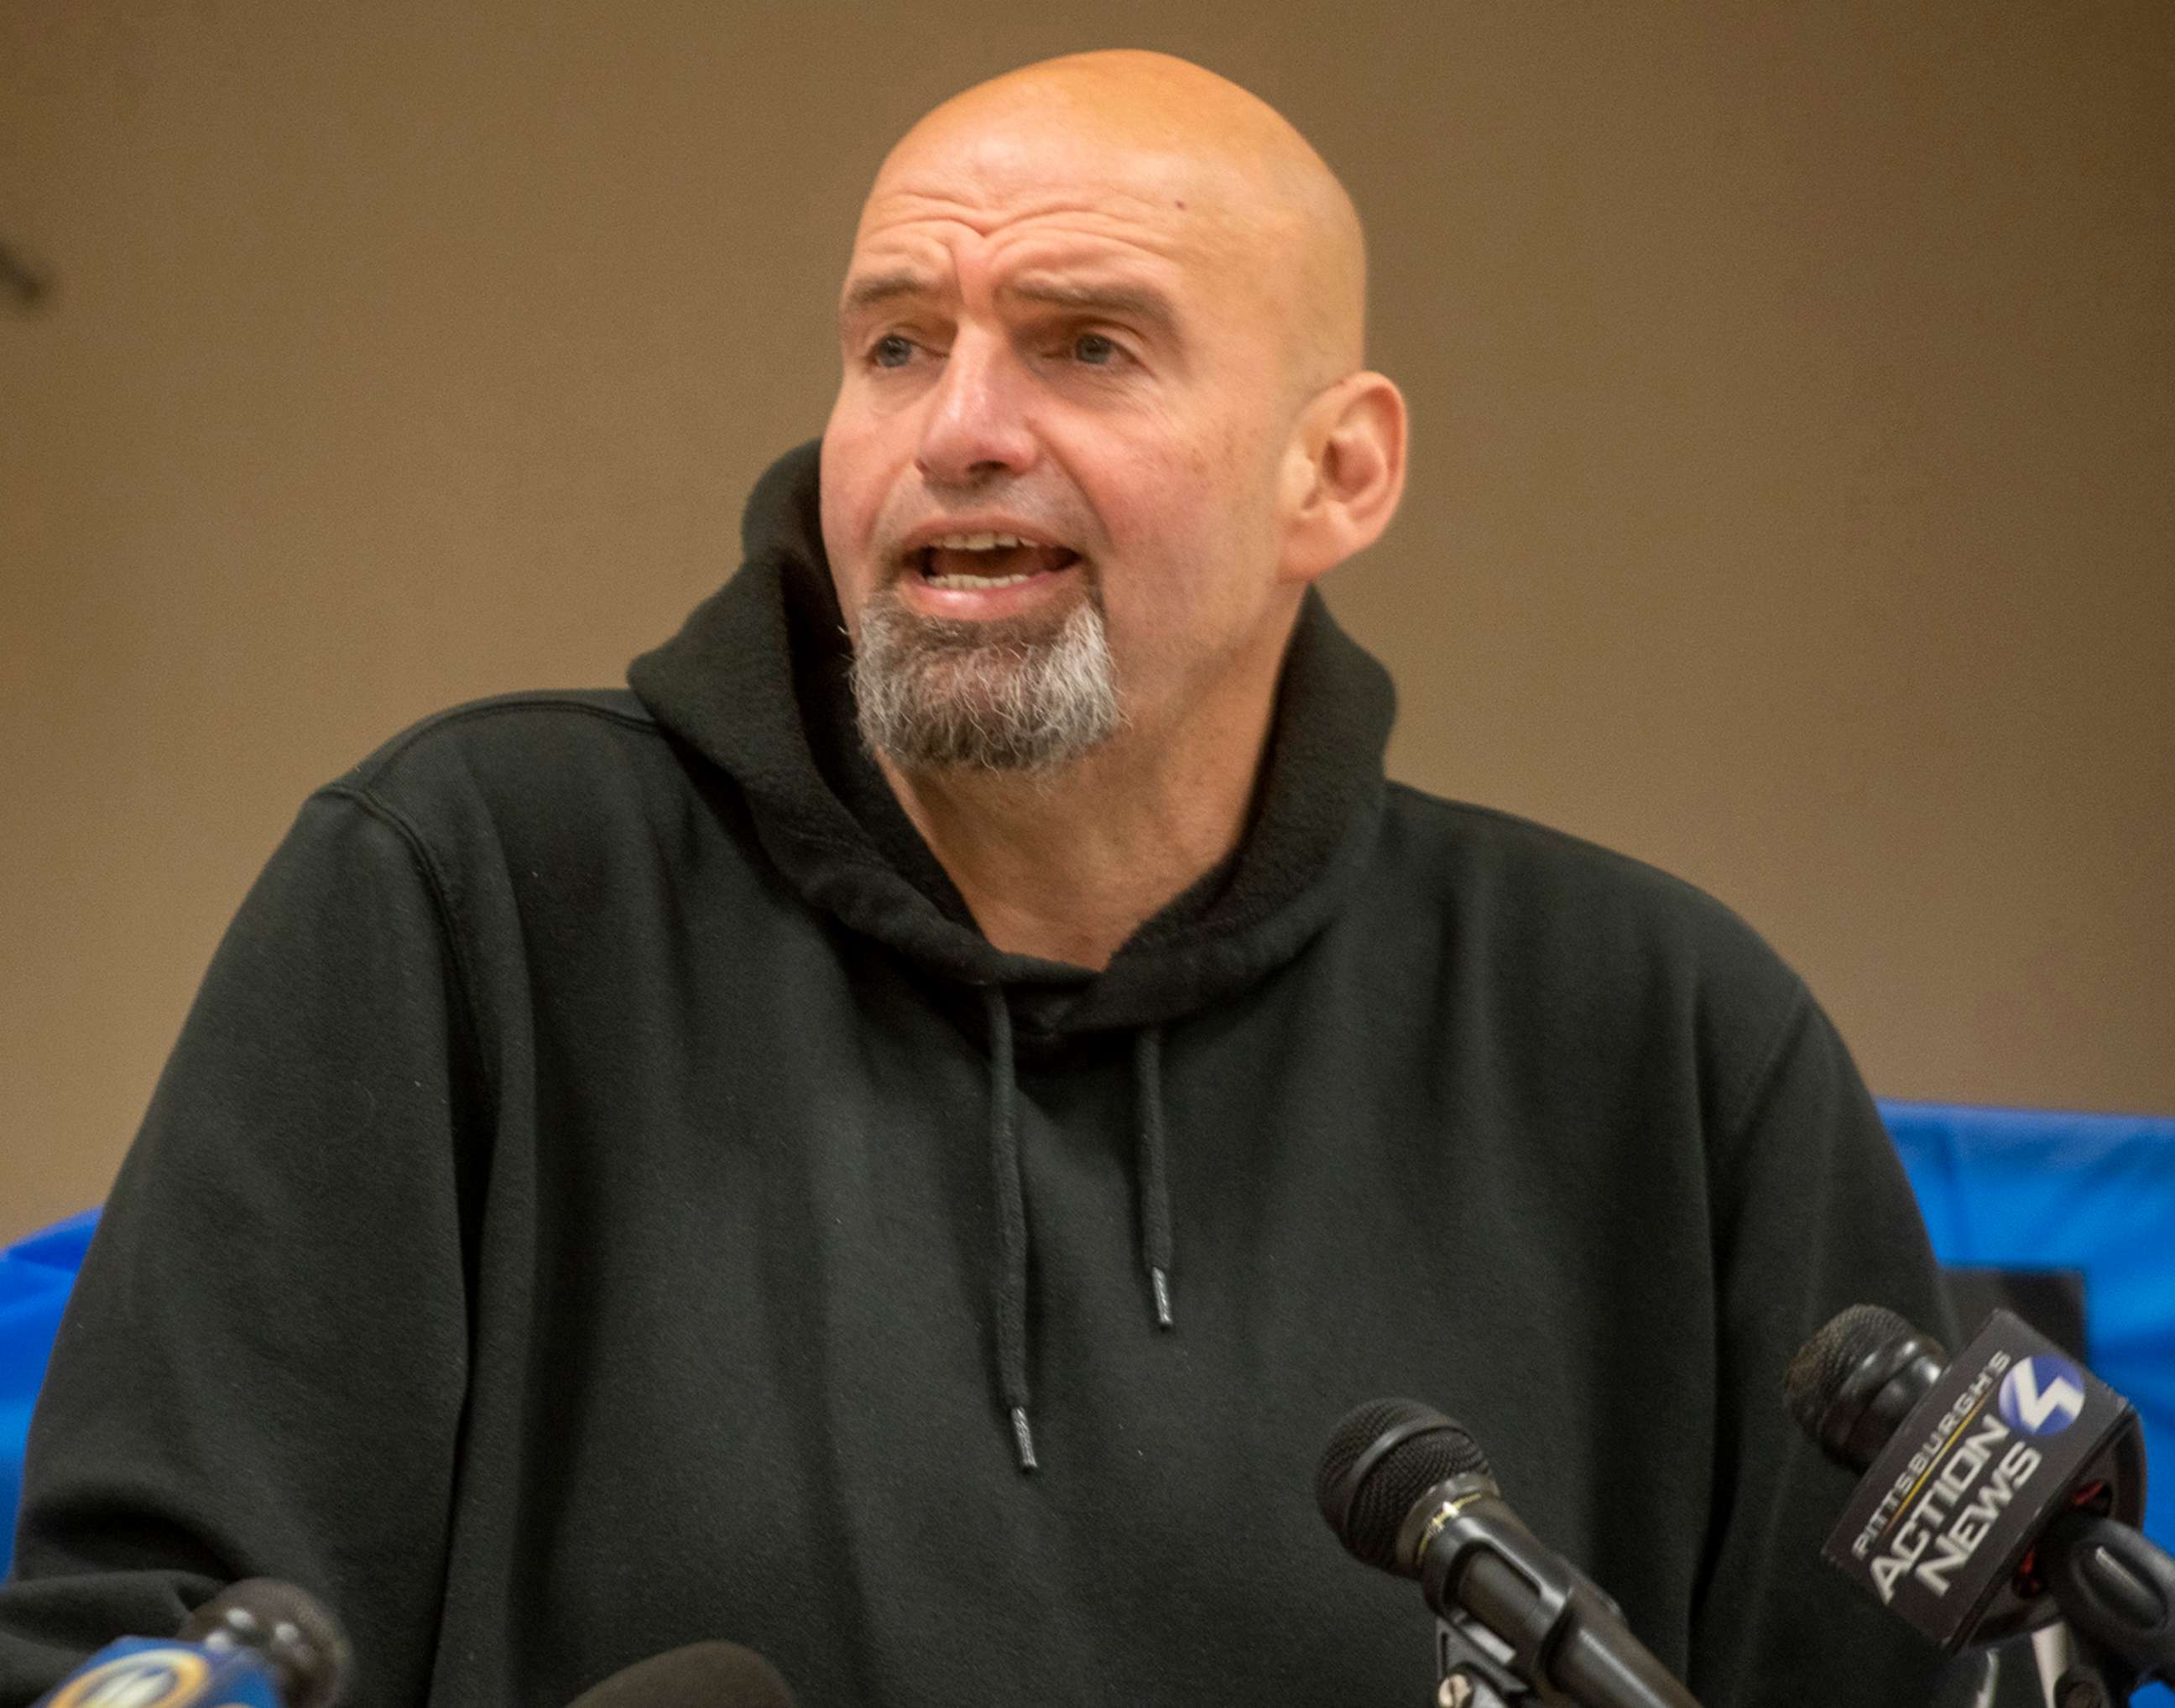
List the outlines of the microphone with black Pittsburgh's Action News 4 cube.
<svg viewBox="0 0 2175 1708">
<path fill-rule="evenodd" d="M 1823 1558 L 1940 1647 L 2068 1614 L 2147 1669 L 2175 1656 L 2175 1562 L 2136 1530 L 2138 1416 L 2018 1316 L 1997 1310 L 1949 1362 L 1851 1305 L 1790 1360 L 1783 1401 L 1864 1473 Z"/>
</svg>

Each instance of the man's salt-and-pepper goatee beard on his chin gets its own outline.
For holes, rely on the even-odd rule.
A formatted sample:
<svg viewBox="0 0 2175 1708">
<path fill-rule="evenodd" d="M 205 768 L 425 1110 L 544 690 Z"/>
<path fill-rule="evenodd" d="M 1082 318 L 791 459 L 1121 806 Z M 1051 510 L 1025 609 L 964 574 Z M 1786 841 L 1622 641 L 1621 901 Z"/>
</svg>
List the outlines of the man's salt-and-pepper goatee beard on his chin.
<svg viewBox="0 0 2175 1708">
<path fill-rule="evenodd" d="M 1051 627 L 918 616 L 885 587 L 861 609 L 853 701 L 861 740 L 900 770 L 1051 772 L 1122 720 L 1094 590 Z"/>
</svg>

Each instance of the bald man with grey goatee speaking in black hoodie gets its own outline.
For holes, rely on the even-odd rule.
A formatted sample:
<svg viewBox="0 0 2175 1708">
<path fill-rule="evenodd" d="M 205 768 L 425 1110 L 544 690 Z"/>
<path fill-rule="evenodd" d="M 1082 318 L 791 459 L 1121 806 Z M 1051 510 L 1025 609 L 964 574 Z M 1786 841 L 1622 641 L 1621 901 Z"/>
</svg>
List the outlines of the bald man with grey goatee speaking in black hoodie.
<svg viewBox="0 0 2175 1708">
<path fill-rule="evenodd" d="M 1720 1704 L 1923 1704 L 1777 1403 L 1938 1323 L 1803 986 L 1390 788 L 1312 583 L 1388 527 L 1351 202 L 1153 54 L 883 163 L 820 446 L 631 670 L 320 790 L 115 1184 L 0 1704 L 270 1575 L 357 1704 L 753 1645 L 805 1704 L 1422 1704 L 1333 1423 L 1455 1412 Z"/>
</svg>

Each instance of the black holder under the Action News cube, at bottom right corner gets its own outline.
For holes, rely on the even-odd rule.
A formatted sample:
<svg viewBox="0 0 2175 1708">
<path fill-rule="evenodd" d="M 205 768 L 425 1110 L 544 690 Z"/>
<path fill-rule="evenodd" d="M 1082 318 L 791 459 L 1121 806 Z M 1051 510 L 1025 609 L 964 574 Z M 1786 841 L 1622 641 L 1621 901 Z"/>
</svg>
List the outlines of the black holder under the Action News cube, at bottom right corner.
<svg viewBox="0 0 2175 1708">
<path fill-rule="evenodd" d="M 2114 1519 L 2071 1512 L 2042 1545 L 2040 1571 L 2077 1643 L 2053 1708 L 2121 1708 L 2151 1680 L 2175 1682 L 2175 1560 Z"/>
</svg>

